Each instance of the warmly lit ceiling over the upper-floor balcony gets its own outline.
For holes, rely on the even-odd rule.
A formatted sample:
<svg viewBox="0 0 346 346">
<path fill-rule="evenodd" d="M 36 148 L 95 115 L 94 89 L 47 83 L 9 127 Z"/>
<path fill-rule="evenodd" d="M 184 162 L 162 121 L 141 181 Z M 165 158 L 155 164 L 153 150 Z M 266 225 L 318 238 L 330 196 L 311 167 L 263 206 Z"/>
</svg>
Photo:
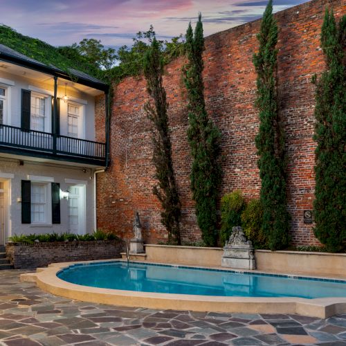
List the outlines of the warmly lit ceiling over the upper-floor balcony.
<svg viewBox="0 0 346 346">
<path fill-rule="evenodd" d="M 32 69 L 27 69 L 26 67 L 19 66 L 16 64 L 10 64 L 9 62 L 0 61 L 0 77 L 1 72 L 10 73 L 12 75 L 18 75 L 22 78 L 28 78 L 30 80 L 35 80 L 35 82 L 39 82 L 40 84 L 46 84 L 47 86 L 51 86 L 52 90 L 54 88 L 54 79 L 52 75 L 47 75 L 46 73 L 42 73 L 39 71 L 35 71 Z M 62 78 L 58 78 L 57 85 L 60 87 L 65 87 L 67 84 L 67 90 L 76 91 L 81 93 L 86 93 L 87 95 L 97 96 L 104 93 L 98 89 L 91 88 L 90 86 L 86 86 L 83 84 L 79 84 L 76 82 L 72 82 L 70 80 L 64 80 Z"/>
</svg>

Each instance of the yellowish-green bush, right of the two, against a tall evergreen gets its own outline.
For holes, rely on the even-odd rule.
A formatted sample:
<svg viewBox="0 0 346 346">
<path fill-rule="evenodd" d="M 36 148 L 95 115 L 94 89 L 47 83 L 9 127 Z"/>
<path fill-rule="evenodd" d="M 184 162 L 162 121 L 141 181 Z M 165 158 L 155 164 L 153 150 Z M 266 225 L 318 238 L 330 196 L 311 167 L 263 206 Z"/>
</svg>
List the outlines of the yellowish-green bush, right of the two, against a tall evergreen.
<svg viewBox="0 0 346 346">
<path fill-rule="evenodd" d="M 242 226 L 246 237 L 255 248 L 266 247 L 266 237 L 262 231 L 263 208 L 260 199 L 252 199 L 242 212 Z"/>
</svg>

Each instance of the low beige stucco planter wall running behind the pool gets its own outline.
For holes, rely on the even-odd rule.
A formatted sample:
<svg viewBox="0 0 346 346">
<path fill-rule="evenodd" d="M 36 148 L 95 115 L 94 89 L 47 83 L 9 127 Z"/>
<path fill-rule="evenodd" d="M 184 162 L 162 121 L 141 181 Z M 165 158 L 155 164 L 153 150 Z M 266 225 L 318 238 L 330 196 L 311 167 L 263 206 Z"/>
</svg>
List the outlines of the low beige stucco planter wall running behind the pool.
<svg viewBox="0 0 346 346">
<path fill-rule="evenodd" d="M 145 245 L 147 261 L 195 266 L 221 266 L 221 248 Z M 257 270 L 275 273 L 346 277 L 346 254 L 301 251 L 255 251 Z"/>
</svg>

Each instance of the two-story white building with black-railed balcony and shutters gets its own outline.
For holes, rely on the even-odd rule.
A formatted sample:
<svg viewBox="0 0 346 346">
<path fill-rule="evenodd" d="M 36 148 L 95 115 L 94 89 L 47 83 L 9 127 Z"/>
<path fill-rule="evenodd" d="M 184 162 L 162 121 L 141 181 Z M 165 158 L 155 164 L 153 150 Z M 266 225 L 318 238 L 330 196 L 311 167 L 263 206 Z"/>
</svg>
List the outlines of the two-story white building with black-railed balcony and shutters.
<svg viewBox="0 0 346 346">
<path fill-rule="evenodd" d="M 0 245 L 11 235 L 91 233 L 95 174 L 108 165 L 95 138 L 95 98 L 108 86 L 0 44 Z M 107 114 L 104 114 L 104 119 Z"/>
</svg>

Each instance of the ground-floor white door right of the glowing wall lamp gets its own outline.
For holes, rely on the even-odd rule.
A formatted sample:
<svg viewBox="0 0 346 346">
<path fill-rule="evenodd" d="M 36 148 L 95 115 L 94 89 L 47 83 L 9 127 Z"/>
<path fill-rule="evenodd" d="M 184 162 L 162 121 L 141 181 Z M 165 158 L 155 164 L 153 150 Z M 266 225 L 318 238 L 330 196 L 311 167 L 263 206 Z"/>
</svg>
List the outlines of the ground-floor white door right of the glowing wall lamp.
<svg viewBox="0 0 346 346">
<path fill-rule="evenodd" d="M 84 185 L 69 186 L 69 233 L 84 235 L 85 231 L 85 194 Z"/>
</svg>

